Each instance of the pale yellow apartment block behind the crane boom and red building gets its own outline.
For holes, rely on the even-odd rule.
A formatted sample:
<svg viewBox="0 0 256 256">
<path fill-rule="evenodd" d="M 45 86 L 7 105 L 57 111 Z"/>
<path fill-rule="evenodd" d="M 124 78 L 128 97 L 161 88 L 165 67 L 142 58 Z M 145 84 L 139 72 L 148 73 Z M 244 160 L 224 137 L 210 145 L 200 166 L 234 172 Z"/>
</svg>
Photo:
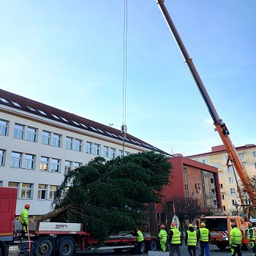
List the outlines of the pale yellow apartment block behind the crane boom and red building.
<svg viewBox="0 0 256 256">
<path fill-rule="evenodd" d="M 238 157 L 240 158 L 244 169 L 249 176 L 256 174 L 256 145 L 249 144 L 236 147 Z M 227 212 L 235 210 L 241 204 L 236 185 L 240 178 L 238 173 L 233 172 L 233 167 L 227 167 L 227 152 L 225 146 L 213 146 L 211 152 L 188 156 L 189 159 L 194 159 L 197 162 L 203 162 L 206 165 L 211 165 L 218 168 L 219 187 L 221 192 L 222 210 Z"/>
</svg>

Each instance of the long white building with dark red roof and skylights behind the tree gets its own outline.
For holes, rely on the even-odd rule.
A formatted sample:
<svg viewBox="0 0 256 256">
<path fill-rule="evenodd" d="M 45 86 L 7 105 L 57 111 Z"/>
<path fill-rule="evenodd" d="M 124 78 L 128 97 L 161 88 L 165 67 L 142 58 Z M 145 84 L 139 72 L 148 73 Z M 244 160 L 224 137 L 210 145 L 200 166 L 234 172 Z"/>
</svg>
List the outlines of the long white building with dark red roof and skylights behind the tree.
<svg viewBox="0 0 256 256">
<path fill-rule="evenodd" d="M 0 187 L 17 187 L 20 214 L 51 210 L 64 174 L 94 157 L 157 151 L 139 138 L 0 89 Z M 170 156 L 170 155 L 169 155 Z"/>
</svg>

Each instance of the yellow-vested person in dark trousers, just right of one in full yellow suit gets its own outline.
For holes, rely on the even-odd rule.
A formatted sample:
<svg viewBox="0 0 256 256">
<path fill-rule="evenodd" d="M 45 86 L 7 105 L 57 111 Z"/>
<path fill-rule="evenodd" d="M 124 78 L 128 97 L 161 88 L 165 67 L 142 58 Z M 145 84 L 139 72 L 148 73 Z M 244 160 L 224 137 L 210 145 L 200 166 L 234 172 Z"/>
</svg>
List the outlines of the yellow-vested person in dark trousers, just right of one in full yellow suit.
<svg viewBox="0 0 256 256">
<path fill-rule="evenodd" d="M 173 256 L 175 251 L 177 252 L 178 256 L 181 256 L 181 232 L 178 230 L 174 222 L 170 224 L 169 244 L 169 256 Z"/>
</svg>

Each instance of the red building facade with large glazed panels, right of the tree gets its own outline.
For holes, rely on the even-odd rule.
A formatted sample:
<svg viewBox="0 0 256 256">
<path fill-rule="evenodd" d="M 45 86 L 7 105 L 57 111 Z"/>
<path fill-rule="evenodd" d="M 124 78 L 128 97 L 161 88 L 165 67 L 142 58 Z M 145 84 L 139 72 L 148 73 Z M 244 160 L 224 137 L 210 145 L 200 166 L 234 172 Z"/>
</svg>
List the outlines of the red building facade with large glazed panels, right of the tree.
<svg viewBox="0 0 256 256">
<path fill-rule="evenodd" d="M 195 198 L 200 206 L 214 206 L 221 209 L 218 169 L 185 157 L 173 157 L 169 160 L 173 165 L 170 185 L 162 192 L 162 205 L 170 202 L 172 197 Z M 162 206 L 157 206 L 157 214 Z"/>
</svg>

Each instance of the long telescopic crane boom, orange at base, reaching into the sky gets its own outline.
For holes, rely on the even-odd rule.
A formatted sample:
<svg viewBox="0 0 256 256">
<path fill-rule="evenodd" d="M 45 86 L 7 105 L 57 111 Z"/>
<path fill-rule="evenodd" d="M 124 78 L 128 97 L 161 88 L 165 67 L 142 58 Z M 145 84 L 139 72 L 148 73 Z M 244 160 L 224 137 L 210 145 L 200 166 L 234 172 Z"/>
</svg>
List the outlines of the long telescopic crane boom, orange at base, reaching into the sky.
<svg viewBox="0 0 256 256">
<path fill-rule="evenodd" d="M 219 133 L 219 136 L 222 139 L 223 144 L 225 145 L 227 155 L 229 157 L 229 160 L 227 161 L 227 165 L 229 165 L 229 162 L 233 163 L 238 173 L 238 176 L 240 177 L 241 182 L 244 185 L 244 189 L 249 195 L 249 199 L 251 200 L 253 205 L 256 205 L 256 195 L 255 195 L 254 189 L 252 189 L 252 182 L 250 181 L 249 176 L 246 173 L 246 170 L 244 169 L 238 157 L 238 154 L 236 153 L 236 148 L 233 146 L 233 143 L 230 140 L 230 137 L 229 137 L 230 132 L 228 131 L 222 119 L 219 118 L 217 111 L 215 110 L 214 105 L 211 102 L 210 97 L 208 96 L 206 88 L 203 85 L 203 82 L 197 73 L 197 69 L 195 68 L 192 59 L 189 57 L 189 53 L 187 53 L 187 50 L 184 47 L 183 42 L 181 41 L 181 37 L 179 36 L 178 31 L 174 26 L 173 20 L 170 18 L 170 15 L 165 7 L 164 0 L 157 0 L 157 4 L 159 6 L 159 9 L 162 12 L 162 15 L 166 20 L 167 26 L 169 27 L 170 31 L 173 34 L 174 39 L 176 40 L 179 50 L 181 50 L 181 54 L 184 57 L 185 63 L 187 64 L 187 67 L 189 67 L 189 71 L 191 72 L 192 77 L 195 80 L 197 89 L 200 91 L 200 94 L 203 97 L 204 102 L 206 103 L 206 106 L 211 115 L 211 118 L 214 121 L 214 126 L 217 132 Z M 244 205 L 243 197 L 241 196 L 241 189 L 239 188 L 239 186 L 238 186 L 238 193 L 241 199 L 241 203 L 242 205 Z"/>
</svg>

